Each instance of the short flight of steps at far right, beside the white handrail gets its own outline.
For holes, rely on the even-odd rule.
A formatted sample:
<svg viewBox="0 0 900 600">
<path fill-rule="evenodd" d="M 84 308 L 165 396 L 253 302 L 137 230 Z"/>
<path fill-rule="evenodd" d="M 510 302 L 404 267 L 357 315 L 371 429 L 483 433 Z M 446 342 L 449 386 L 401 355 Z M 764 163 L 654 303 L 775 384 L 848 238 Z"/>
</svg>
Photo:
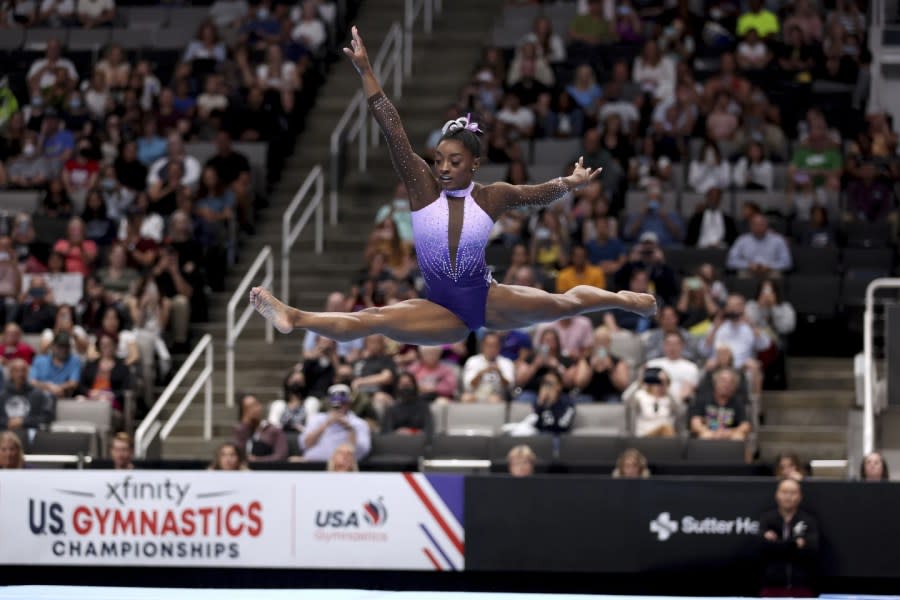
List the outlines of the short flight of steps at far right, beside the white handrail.
<svg viewBox="0 0 900 600">
<path fill-rule="evenodd" d="M 760 459 L 781 452 L 803 461 L 847 458 L 848 419 L 854 410 L 853 361 L 849 358 L 788 359 L 790 389 L 762 395 Z"/>
</svg>

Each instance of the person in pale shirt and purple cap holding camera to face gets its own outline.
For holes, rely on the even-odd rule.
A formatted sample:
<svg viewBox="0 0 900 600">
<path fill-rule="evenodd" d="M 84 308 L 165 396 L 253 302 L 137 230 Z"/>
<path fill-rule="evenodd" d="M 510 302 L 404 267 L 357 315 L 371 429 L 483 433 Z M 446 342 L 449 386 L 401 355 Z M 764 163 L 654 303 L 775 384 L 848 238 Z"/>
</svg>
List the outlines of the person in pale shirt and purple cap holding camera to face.
<svg viewBox="0 0 900 600">
<path fill-rule="evenodd" d="M 305 460 L 325 462 L 341 444 L 353 446 L 357 459 L 369 454 L 372 445 L 369 425 L 350 410 L 350 393 L 344 384 L 328 388 L 328 412 L 310 417 L 306 431 L 300 436 Z"/>
</svg>

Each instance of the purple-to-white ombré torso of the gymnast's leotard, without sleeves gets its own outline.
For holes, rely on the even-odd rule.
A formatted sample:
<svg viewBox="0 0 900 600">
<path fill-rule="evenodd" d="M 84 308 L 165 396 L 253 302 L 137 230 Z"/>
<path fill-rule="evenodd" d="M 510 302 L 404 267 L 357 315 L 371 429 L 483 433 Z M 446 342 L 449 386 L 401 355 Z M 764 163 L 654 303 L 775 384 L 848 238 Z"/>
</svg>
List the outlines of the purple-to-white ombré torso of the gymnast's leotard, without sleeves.
<svg viewBox="0 0 900 600">
<path fill-rule="evenodd" d="M 472 197 L 475 184 L 444 191 L 412 213 L 413 240 L 428 299 L 453 312 L 470 330 L 484 326 L 485 305 L 492 277 L 484 262 L 484 247 L 494 220 Z M 450 203 L 463 203 L 462 232 L 456 256 L 450 248 Z"/>
</svg>

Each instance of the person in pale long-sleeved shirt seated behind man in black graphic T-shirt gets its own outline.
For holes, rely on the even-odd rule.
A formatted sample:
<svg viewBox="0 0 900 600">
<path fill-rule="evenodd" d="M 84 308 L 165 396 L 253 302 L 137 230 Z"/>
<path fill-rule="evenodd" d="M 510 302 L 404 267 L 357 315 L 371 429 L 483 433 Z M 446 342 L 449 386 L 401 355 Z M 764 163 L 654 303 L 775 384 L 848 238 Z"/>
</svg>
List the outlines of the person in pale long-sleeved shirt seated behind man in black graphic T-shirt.
<svg viewBox="0 0 900 600">
<path fill-rule="evenodd" d="M 762 367 L 756 359 L 756 353 L 762 352 L 772 344 L 765 331 L 750 323 L 745 314 L 744 297 L 731 294 L 725 301 L 725 307 L 713 321 L 703 348 L 707 355 L 712 355 L 715 348 L 728 346 L 734 356 L 734 366 L 744 371 L 750 379 L 753 391 L 762 389 Z"/>
</svg>

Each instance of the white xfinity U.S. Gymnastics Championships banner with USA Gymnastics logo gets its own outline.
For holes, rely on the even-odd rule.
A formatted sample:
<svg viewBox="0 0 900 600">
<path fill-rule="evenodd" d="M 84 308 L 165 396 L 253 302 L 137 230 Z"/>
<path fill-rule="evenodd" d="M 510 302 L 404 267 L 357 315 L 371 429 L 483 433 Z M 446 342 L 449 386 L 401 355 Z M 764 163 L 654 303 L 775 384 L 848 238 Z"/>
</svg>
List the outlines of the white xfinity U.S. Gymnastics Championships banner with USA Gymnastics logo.
<svg viewBox="0 0 900 600">
<path fill-rule="evenodd" d="M 0 473 L 0 563 L 462 570 L 462 476 Z"/>
</svg>

